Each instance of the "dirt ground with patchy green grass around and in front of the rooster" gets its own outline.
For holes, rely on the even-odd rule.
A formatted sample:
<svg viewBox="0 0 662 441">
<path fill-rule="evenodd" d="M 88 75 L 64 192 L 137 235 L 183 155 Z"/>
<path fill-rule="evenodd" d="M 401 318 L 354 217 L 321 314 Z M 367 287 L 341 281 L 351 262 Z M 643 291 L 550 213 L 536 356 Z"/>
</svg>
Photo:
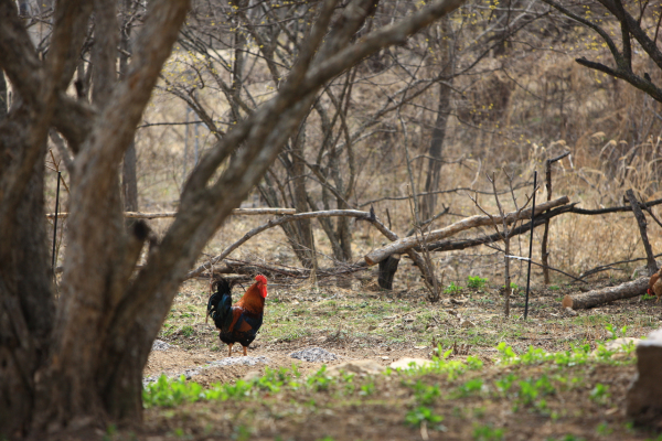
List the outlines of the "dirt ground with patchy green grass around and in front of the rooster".
<svg viewBox="0 0 662 441">
<path fill-rule="evenodd" d="M 616 283 L 616 280 L 596 281 L 590 288 Z M 615 354 L 612 363 L 565 368 L 547 364 L 505 367 L 496 364 L 500 355 L 496 345 L 501 342 L 519 354 L 528 347 L 557 353 L 581 345 L 595 351 L 616 336 L 645 336 L 660 326 L 662 319 L 662 306 L 653 299 L 620 300 L 573 314 L 562 311 L 560 299 L 587 288 L 534 287 L 530 316 L 524 321 L 523 293 L 515 293 L 511 316 L 506 319 L 499 289 L 489 284 L 446 292 L 436 303 L 429 303 L 425 292 L 415 290 L 388 293 L 334 286 L 274 289 L 267 298 L 263 329 L 248 349 L 250 357 L 264 357 L 267 364 L 215 366 L 214 363 L 226 358 L 227 349 L 220 344 L 212 323 L 204 322 L 205 289 L 204 283 L 190 283 L 178 295 L 160 335 L 171 346 L 167 351 L 152 351 L 146 378 L 184 375 L 206 388 L 216 383 L 255 378 L 267 366 L 280 369 L 292 365 L 298 366 L 305 378 L 322 366 L 290 357 L 292 352 L 307 347 L 335 354 L 338 359 L 324 363 L 327 366 L 352 359 L 372 359 L 387 366 L 403 357 L 429 359 L 433 347 L 441 345 L 444 351 L 451 351 L 448 359 L 462 362 L 473 356 L 483 367 L 459 378 L 431 374 L 417 377 L 416 381 L 442 390 L 445 398 L 430 405 L 430 409 L 444 416 L 437 427 L 413 428 L 403 422 L 404 415 L 416 402 L 410 391 L 413 380 L 366 376 L 356 381 L 356 387 L 370 386 L 366 396 L 348 396 L 341 386 L 332 386 L 322 394 L 299 388 L 239 401 L 151 408 L 146 412 L 145 427 L 138 431 L 139 439 L 658 439 L 654 428 L 634 428 L 624 416 L 626 391 L 636 374 L 634 353 Z M 232 356 L 241 359 L 241 347 L 235 347 Z M 509 375 L 524 380 L 549 378 L 555 391 L 545 399 L 536 398 L 535 406 L 523 406 L 517 394 L 494 392 L 493 385 Z M 458 392 L 463 390 L 462 385 L 477 378 L 491 391 Z M 598 401 L 595 390 L 599 387 L 608 394 Z"/>
</svg>

